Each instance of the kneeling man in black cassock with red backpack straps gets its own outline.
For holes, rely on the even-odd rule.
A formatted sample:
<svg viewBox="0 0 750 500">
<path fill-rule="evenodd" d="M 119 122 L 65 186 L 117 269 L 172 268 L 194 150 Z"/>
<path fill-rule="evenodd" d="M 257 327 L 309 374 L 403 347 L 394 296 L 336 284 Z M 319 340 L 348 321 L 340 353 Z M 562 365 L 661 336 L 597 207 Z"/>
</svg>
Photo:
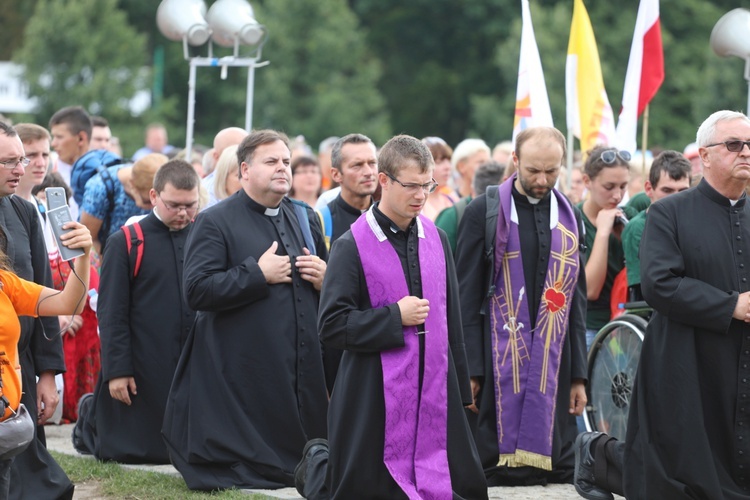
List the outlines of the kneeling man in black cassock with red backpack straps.
<svg viewBox="0 0 750 500">
<path fill-rule="evenodd" d="M 123 463 L 169 463 L 161 426 L 195 316 L 182 294 L 182 262 L 199 188 L 189 163 L 167 162 L 149 193 L 154 209 L 136 223 L 142 236 L 133 241 L 126 226 L 107 243 L 97 308 L 102 370 L 93 395 L 81 398 L 73 435 L 82 453 Z"/>
</svg>

